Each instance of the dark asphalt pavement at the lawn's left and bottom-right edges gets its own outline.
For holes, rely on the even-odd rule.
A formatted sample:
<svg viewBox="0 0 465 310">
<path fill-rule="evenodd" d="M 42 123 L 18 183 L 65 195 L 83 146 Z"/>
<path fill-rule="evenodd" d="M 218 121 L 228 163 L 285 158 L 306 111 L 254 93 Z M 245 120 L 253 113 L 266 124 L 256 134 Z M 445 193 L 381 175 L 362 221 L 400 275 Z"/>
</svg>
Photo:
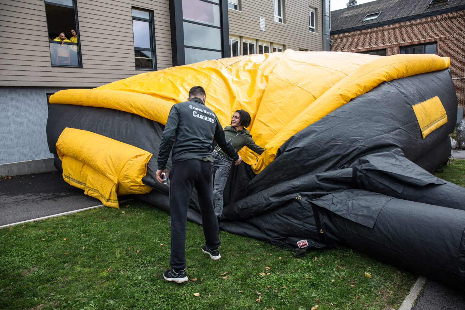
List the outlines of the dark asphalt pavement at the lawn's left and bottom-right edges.
<svg viewBox="0 0 465 310">
<path fill-rule="evenodd" d="M 465 158 L 465 150 L 452 150 Z M 100 200 L 68 185 L 61 173 L 0 178 L 0 227 L 102 206 Z M 399 310 L 465 310 L 465 292 L 419 277 Z"/>
</svg>

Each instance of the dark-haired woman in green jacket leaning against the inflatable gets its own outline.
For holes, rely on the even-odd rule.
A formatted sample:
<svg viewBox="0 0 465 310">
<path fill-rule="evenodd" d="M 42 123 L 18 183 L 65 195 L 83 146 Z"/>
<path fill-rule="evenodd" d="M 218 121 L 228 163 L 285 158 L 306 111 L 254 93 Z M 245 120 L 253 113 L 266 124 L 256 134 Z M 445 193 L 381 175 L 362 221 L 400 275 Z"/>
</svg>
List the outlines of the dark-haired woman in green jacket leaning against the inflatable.
<svg viewBox="0 0 465 310">
<path fill-rule="evenodd" d="M 253 141 L 250 132 L 244 128 L 250 125 L 251 120 L 249 112 L 237 110 L 231 119 L 231 126 L 225 127 L 225 136 L 236 151 L 239 152 L 241 148 L 247 146 L 253 152 L 261 154 L 265 150 Z M 213 201 L 215 203 L 215 214 L 219 220 L 223 212 L 223 190 L 231 171 L 233 159 L 229 158 L 218 145 L 213 149 L 212 156 L 213 168 L 215 169 Z"/>
</svg>

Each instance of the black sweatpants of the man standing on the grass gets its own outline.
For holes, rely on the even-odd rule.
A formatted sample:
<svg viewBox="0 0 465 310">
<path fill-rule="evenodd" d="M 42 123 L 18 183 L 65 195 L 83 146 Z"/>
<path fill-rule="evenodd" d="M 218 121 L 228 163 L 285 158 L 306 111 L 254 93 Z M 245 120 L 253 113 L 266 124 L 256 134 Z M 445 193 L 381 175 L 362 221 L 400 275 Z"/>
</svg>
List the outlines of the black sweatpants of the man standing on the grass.
<svg viewBox="0 0 465 310">
<path fill-rule="evenodd" d="M 170 177 L 171 259 L 175 269 L 186 268 L 187 207 L 193 187 L 197 189 L 205 244 L 211 250 L 219 247 L 219 227 L 213 206 L 213 163 L 188 159 L 173 163 Z"/>
</svg>

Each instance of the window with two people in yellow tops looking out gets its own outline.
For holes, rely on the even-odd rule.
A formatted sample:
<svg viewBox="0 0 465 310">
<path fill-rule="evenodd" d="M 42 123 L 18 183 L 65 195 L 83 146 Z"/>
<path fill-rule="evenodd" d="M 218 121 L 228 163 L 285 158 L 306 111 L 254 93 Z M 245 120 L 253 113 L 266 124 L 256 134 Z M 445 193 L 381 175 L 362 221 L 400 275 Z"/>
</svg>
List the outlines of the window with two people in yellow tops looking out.
<svg viewBox="0 0 465 310">
<path fill-rule="evenodd" d="M 52 66 L 82 67 L 76 0 L 46 0 Z"/>
</svg>

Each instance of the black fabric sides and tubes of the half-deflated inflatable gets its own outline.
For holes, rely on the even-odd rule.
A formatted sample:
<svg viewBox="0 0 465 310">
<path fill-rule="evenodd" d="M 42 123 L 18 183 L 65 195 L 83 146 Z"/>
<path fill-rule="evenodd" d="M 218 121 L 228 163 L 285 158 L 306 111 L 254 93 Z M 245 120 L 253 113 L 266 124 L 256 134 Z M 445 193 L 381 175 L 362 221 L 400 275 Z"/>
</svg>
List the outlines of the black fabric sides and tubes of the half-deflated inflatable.
<svg viewBox="0 0 465 310">
<path fill-rule="evenodd" d="M 448 122 L 423 137 L 412 106 L 436 96 Z M 295 133 L 258 175 L 233 166 L 220 227 L 293 250 L 347 244 L 465 287 L 465 191 L 423 170 L 447 161 L 456 113 L 449 70 L 384 82 Z M 153 154 L 164 128 L 129 112 L 54 104 L 51 152 L 66 127 Z M 155 171 L 153 156 L 143 178 L 153 191 L 134 197 L 169 211 L 168 186 Z M 201 224 L 195 192 L 188 219 Z"/>
</svg>

